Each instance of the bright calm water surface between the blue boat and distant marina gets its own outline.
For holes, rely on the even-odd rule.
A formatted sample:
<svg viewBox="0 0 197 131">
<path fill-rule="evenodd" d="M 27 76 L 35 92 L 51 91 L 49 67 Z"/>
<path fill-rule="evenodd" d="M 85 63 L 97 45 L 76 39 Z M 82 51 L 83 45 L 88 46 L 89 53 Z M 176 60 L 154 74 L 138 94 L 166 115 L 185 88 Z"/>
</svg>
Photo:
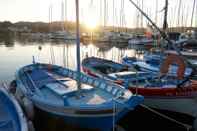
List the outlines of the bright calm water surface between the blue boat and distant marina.
<svg viewBox="0 0 197 131">
<path fill-rule="evenodd" d="M 16 69 L 32 63 L 32 56 L 37 62 L 57 64 L 76 69 L 75 41 L 29 41 L 11 39 L 12 44 L 0 41 L 0 80 L 10 81 Z M 9 43 L 9 44 L 8 44 Z M 134 56 L 136 51 L 120 44 L 81 43 L 81 60 L 95 56 L 120 62 L 125 55 Z"/>
</svg>

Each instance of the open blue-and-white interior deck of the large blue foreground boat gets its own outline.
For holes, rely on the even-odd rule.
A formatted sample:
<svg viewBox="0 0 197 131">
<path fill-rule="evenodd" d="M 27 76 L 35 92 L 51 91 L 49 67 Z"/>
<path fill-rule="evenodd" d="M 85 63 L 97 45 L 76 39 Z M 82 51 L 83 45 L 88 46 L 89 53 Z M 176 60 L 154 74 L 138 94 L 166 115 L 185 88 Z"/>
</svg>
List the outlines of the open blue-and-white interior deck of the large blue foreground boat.
<svg viewBox="0 0 197 131">
<path fill-rule="evenodd" d="M 81 89 L 78 90 L 77 73 L 63 68 L 35 68 L 25 71 L 23 77 L 28 87 L 39 89 L 46 101 L 64 106 L 98 106 L 124 94 L 120 88 L 84 74 L 81 74 Z M 80 99 L 77 97 L 79 93 Z"/>
</svg>

